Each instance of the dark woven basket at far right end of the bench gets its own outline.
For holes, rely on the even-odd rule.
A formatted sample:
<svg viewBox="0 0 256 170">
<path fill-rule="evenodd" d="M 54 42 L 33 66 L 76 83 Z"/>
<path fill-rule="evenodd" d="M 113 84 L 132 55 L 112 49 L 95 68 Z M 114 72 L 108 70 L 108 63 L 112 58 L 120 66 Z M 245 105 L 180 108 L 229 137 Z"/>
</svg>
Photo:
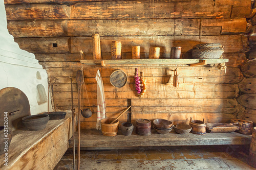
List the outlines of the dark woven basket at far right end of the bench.
<svg viewBox="0 0 256 170">
<path fill-rule="evenodd" d="M 239 123 L 236 126 L 239 126 L 239 130 L 236 130 L 238 133 L 242 134 L 251 134 L 253 129 L 253 123 L 249 120 L 242 120 L 242 119 L 236 119 L 232 118 L 231 123 Z"/>
</svg>

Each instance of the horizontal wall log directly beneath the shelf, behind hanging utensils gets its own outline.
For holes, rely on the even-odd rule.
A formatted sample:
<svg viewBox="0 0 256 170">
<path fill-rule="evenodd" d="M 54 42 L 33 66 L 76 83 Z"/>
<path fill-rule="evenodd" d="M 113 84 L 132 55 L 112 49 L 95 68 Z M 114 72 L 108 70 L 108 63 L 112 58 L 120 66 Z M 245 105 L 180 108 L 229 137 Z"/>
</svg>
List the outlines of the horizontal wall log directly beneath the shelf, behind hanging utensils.
<svg viewBox="0 0 256 170">
<path fill-rule="evenodd" d="M 94 78 L 94 76 L 97 73 L 97 70 L 99 69 L 101 72 L 101 76 L 104 78 L 109 77 L 111 73 L 115 69 L 122 69 L 127 77 L 134 77 L 134 71 L 136 67 L 89 67 L 90 69 L 87 69 L 86 71 L 83 71 L 84 77 L 91 77 Z M 170 69 L 175 69 L 176 66 L 170 66 L 170 67 L 141 67 L 140 71 L 144 72 L 145 77 L 163 77 L 167 76 L 166 71 L 170 71 Z M 74 72 L 79 70 L 80 67 L 69 69 L 63 69 L 60 68 L 47 68 L 48 76 L 70 76 L 75 77 Z M 219 76 L 225 76 L 225 77 L 243 77 L 241 70 L 238 67 L 228 67 L 226 74 L 224 75 L 224 71 L 220 71 L 216 67 L 178 67 L 179 69 L 179 76 L 180 77 L 212 77 L 217 78 Z"/>
</svg>

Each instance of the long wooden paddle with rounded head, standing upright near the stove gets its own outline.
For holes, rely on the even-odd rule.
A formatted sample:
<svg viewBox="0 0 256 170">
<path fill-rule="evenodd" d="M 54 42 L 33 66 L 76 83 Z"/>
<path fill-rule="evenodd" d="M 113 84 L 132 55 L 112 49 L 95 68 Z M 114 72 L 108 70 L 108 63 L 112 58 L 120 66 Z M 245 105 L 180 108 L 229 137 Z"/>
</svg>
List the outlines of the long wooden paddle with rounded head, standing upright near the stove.
<svg viewBox="0 0 256 170">
<path fill-rule="evenodd" d="M 76 72 L 76 82 L 78 88 L 78 126 L 77 126 L 77 133 L 78 133 L 78 143 L 77 143 L 77 169 L 80 169 L 80 136 L 81 136 L 81 127 L 80 127 L 80 102 L 81 102 L 81 87 L 83 83 L 83 72 L 82 70 L 78 70 Z"/>
</svg>

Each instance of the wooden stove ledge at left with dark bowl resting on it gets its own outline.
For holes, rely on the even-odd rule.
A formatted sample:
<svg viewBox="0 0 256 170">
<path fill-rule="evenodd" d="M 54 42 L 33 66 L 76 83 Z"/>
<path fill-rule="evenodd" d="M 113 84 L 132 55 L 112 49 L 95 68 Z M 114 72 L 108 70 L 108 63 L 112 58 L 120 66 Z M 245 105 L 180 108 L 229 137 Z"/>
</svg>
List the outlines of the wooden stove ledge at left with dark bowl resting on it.
<svg viewBox="0 0 256 170">
<path fill-rule="evenodd" d="M 16 130 L 8 150 L 8 166 L 1 156 L 0 169 L 53 169 L 68 150 L 71 137 L 71 113 L 65 119 L 49 120 L 44 130 Z"/>
</svg>

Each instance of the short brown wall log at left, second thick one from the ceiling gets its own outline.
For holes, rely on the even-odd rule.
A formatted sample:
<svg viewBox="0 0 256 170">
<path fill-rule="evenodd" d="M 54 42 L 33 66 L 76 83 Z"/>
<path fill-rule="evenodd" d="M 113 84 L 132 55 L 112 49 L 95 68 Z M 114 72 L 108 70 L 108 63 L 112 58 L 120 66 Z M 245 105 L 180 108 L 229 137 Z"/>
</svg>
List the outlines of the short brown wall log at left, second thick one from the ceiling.
<svg viewBox="0 0 256 170">
<path fill-rule="evenodd" d="M 12 20 L 8 21 L 8 31 L 14 38 L 20 37 L 66 37 L 66 20 Z"/>
</svg>

